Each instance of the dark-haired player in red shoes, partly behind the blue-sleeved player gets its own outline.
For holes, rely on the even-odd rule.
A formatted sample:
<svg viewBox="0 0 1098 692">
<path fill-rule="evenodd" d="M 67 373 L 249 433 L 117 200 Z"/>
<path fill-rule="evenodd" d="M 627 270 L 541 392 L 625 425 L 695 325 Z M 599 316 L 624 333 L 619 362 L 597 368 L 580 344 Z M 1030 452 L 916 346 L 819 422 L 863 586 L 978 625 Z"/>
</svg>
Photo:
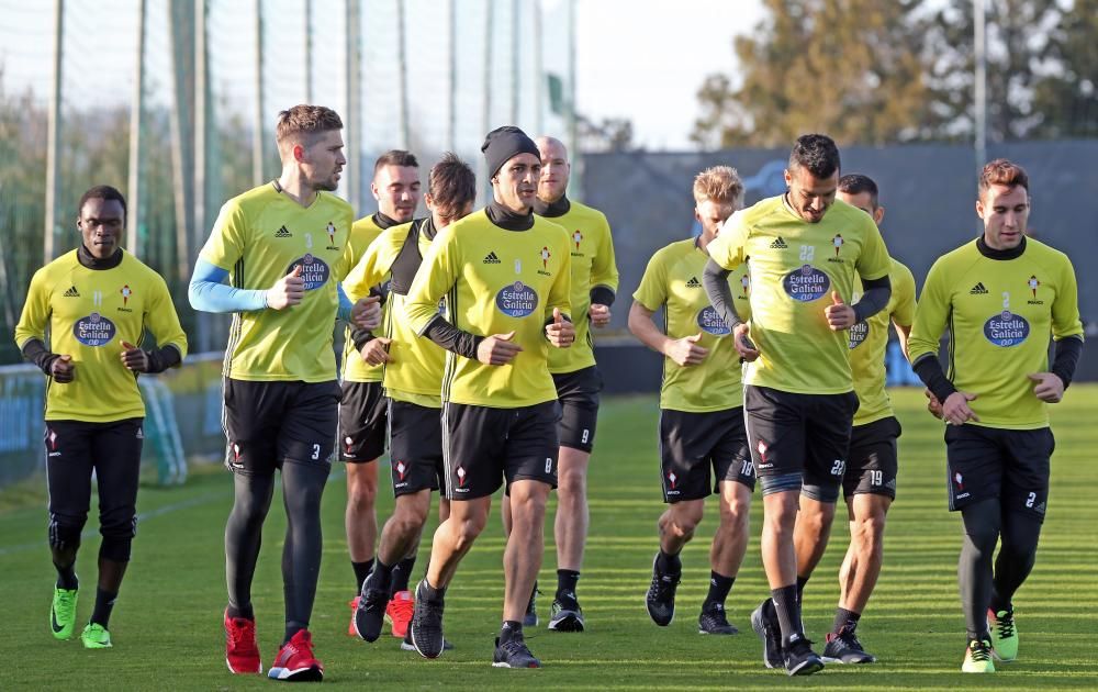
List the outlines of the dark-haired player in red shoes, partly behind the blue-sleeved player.
<svg viewBox="0 0 1098 692">
<path fill-rule="evenodd" d="M 370 183 L 378 212 L 355 222 L 348 245 L 351 248 L 351 267 L 382 231 L 412 221 L 419 205 L 419 163 L 402 149 L 385 152 L 373 165 Z M 365 297 L 366 293 L 357 298 Z M 384 313 L 389 311 L 385 308 Z M 383 356 L 386 339 L 374 337 L 365 330 L 347 326 L 343 354 L 343 398 L 339 401 L 339 458 L 347 469 L 347 509 L 344 526 L 350 565 L 355 570 L 355 593 L 361 593 L 362 583 L 373 568 L 373 546 L 378 539 L 378 515 L 374 500 L 378 495 L 378 465 L 374 461 L 385 451 L 389 425 L 389 401 L 381 388 Z M 411 570 L 412 565 L 400 566 L 400 571 Z M 407 576 L 403 577 L 407 591 Z M 404 595 L 407 595 L 406 593 Z M 358 596 L 350 601 L 351 617 L 347 634 L 355 635 L 355 610 Z M 400 603 L 400 601 L 394 601 Z M 411 607 L 394 609 L 394 623 L 407 627 Z M 403 615 L 403 616 L 402 616 Z"/>
</svg>

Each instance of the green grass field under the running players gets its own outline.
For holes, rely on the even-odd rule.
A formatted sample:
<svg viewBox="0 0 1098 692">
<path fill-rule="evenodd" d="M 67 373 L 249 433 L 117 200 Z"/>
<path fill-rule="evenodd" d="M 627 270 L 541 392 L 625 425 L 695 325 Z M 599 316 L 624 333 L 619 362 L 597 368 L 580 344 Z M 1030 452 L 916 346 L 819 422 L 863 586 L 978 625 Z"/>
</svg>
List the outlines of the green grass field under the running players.
<svg viewBox="0 0 1098 692">
<path fill-rule="evenodd" d="M 545 661 L 538 671 L 490 666 L 503 598 L 503 537 L 498 516 L 462 563 L 447 598 L 447 638 L 457 646 L 428 661 L 401 651 L 388 634 L 373 645 L 346 635 L 346 602 L 354 595 L 343 529 L 345 484 L 334 476 L 324 502 L 324 567 L 311 629 L 326 668 L 325 684 L 386 689 L 545 687 L 570 690 L 842 687 L 895 689 L 1095 689 L 1098 687 L 1098 386 L 1076 386 L 1054 408 L 1057 437 L 1052 494 L 1037 568 L 1016 599 L 1021 633 L 1017 662 L 991 677 L 962 677 L 964 625 L 956 592 L 960 525 L 945 510 L 941 425 L 922 410 L 920 390 L 894 392 L 904 424 L 899 495 L 888 520 L 885 567 L 859 634 L 881 662 L 829 666 L 811 678 L 787 679 L 763 668 L 761 644 L 749 614 L 766 595 L 759 559 L 759 495 L 752 540 L 728 601 L 735 637 L 697 634 L 697 610 L 707 579 L 712 516 L 683 555 L 679 614 L 656 627 L 643 605 L 662 511 L 656 451 L 654 398 L 604 403 L 591 473 L 591 539 L 580 581 L 589 621 L 582 635 L 529 630 L 530 648 Z M 336 467 L 335 473 L 339 469 Z M 111 630 L 115 646 L 87 651 L 78 639 L 56 641 L 47 618 L 54 571 L 46 548 L 44 493 L 26 487 L 0 494 L 0 583 L 8 638 L 0 689 L 237 689 L 274 684 L 233 677 L 224 663 L 221 613 L 225 601 L 223 531 L 231 505 L 225 472 L 195 472 L 183 488 L 143 488 L 143 515 L 134 560 Z M 12 496 L 19 493 L 19 496 Z M 392 504 L 379 501 L 383 521 Z M 282 629 L 279 571 L 283 513 L 279 500 L 267 524 L 255 584 L 265 667 Z M 713 507 L 715 510 L 715 507 Z M 96 510 L 92 509 L 94 517 Z M 550 516 L 552 509 L 550 509 Z M 94 520 L 93 520 L 94 521 Z M 542 614 L 551 601 L 554 553 L 551 520 L 542 583 Z M 838 562 L 845 536 L 837 526 L 831 548 L 805 599 L 805 623 L 822 639 L 838 598 Z M 80 626 L 94 599 L 98 536 L 86 539 L 78 572 L 83 579 Z M 421 557 L 416 577 L 426 556 Z"/>
</svg>

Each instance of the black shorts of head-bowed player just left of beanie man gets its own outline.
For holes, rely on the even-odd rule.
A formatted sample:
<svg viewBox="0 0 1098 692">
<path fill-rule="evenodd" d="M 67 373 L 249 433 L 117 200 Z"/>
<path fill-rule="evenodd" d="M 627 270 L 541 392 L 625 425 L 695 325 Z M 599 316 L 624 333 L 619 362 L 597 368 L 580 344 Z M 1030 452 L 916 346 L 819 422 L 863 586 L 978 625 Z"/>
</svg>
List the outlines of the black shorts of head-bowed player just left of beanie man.
<svg viewBox="0 0 1098 692">
<path fill-rule="evenodd" d="M 441 410 L 390 401 L 389 425 L 393 494 L 399 498 L 445 488 Z"/>
</svg>

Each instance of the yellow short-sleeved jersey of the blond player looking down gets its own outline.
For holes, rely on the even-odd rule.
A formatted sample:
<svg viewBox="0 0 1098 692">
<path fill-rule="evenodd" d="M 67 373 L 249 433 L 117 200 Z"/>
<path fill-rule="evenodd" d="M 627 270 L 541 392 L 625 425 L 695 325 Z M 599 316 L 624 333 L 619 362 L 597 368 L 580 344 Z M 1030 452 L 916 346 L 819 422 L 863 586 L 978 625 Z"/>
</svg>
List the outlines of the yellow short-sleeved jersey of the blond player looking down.
<svg viewBox="0 0 1098 692">
<path fill-rule="evenodd" d="M 663 383 L 660 408 L 704 413 L 743 405 L 740 356 L 732 345 L 731 330 L 709 303 L 702 286 L 702 272 L 709 256 L 694 238 L 679 241 L 658 250 L 648 261 L 634 300 L 663 313 L 663 333 L 671 338 L 702 334 L 698 346 L 709 354 L 699 365 L 681 366 L 663 358 Z M 736 314 L 750 316 L 747 265 L 741 264 L 728 277 Z"/>
</svg>

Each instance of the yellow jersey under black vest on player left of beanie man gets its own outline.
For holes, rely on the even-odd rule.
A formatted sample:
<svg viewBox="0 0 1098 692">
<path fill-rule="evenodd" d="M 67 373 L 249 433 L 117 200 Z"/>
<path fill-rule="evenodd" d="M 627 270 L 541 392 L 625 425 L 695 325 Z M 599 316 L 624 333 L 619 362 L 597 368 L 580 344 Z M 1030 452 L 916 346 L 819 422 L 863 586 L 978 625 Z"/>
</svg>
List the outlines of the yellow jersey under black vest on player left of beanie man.
<svg viewBox="0 0 1098 692">
<path fill-rule="evenodd" d="M 393 263 L 404 249 L 405 243 L 410 242 L 408 234 L 412 232 L 412 223 L 392 226 L 370 244 L 366 254 L 344 280 L 344 292 L 348 298 L 358 300 L 370 292 L 370 287 L 390 279 Z M 416 242 L 419 258 L 430 248 L 430 243 L 427 234 L 421 231 Z M 385 393 L 395 401 L 439 409 L 442 405 L 442 369 L 446 365 L 446 350 L 429 338 L 419 338 L 416 335 L 408 321 L 404 319 L 407 297 L 397 291 L 397 288 L 391 288 L 389 291 L 389 311 L 384 323 L 384 334 L 392 339 L 389 345 L 390 361 L 384 366 Z M 445 312 L 442 316 L 446 316 Z"/>
</svg>

